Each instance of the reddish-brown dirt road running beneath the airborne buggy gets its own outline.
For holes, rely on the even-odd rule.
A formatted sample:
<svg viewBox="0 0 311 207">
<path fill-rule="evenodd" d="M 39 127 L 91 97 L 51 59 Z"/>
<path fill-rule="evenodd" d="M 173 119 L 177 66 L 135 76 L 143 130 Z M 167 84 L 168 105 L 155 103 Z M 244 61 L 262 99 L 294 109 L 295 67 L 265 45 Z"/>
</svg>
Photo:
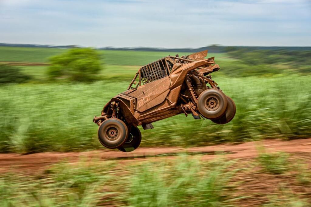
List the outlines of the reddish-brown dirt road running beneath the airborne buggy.
<svg viewBox="0 0 311 207">
<path fill-rule="evenodd" d="M 239 145 L 214 145 L 206 147 L 193 148 L 138 148 L 130 153 L 123 153 L 118 150 L 96 150 L 89 152 L 46 152 L 36 154 L 0 154 L 0 172 L 7 171 L 29 171 L 36 172 L 43 170 L 50 164 L 57 163 L 62 160 L 75 162 L 81 156 L 97 157 L 102 160 L 120 160 L 122 162 L 132 162 L 142 159 L 161 158 L 163 156 L 174 158 L 174 156 L 187 154 L 202 154 L 202 159 L 215 159 L 216 154 L 225 154 L 228 159 L 249 160 L 257 157 L 258 147 L 264 146 L 268 152 L 287 152 L 294 157 L 304 159 L 311 164 L 311 138 L 302 140 L 264 140 L 256 142 L 246 142 Z"/>
</svg>

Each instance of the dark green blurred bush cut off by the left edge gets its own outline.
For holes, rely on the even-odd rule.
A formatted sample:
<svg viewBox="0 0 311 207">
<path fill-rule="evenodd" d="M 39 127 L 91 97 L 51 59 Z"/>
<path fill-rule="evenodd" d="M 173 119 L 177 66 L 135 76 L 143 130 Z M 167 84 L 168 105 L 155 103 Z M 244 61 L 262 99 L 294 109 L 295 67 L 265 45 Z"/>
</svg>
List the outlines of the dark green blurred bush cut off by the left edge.
<svg viewBox="0 0 311 207">
<path fill-rule="evenodd" d="M 23 83 L 30 79 L 30 76 L 21 72 L 20 68 L 0 64 L 0 84 Z"/>
</svg>

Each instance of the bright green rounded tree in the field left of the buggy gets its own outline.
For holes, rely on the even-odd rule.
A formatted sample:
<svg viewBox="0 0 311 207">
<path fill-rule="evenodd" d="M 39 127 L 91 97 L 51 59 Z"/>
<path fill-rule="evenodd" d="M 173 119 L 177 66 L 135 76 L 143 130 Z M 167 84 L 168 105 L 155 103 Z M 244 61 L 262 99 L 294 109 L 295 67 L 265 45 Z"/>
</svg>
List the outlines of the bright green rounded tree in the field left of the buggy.
<svg viewBox="0 0 311 207">
<path fill-rule="evenodd" d="M 72 48 L 49 59 L 50 78 L 93 81 L 101 70 L 100 54 L 92 48 Z"/>
</svg>

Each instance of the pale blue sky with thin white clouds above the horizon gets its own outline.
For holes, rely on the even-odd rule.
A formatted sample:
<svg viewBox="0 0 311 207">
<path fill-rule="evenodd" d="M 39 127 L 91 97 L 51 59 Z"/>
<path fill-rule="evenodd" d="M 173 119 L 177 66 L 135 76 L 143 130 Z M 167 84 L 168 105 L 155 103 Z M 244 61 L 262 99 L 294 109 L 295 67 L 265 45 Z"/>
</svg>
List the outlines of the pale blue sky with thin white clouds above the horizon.
<svg viewBox="0 0 311 207">
<path fill-rule="evenodd" d="M 311 46 L 311 0 L 0 0 L 0 42 Z"/>
</svg>

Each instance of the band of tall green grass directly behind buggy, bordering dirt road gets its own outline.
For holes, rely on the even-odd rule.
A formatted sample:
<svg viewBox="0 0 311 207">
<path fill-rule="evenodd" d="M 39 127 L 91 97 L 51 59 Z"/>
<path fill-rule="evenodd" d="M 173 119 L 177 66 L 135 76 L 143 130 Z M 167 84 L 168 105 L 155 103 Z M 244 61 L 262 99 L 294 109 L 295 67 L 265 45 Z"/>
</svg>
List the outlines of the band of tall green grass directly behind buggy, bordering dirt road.
<svg viewBox="0 0 311 207">
<path fill-rule="evenodd" d="M 289 85 L 293 80 L 295 84 Z M 306 138 L 311 129 L 310 76 L 215 81 L 236 103 L 232 122 L 217 125 L 183 114 L 154 122 L 142 146 L 195 146 L 262 138 Z M 12 84 L 0 87 L 0 151 L 39 152 L 102 148 L 92 122 L 128 81 Z"/>
</svg>

